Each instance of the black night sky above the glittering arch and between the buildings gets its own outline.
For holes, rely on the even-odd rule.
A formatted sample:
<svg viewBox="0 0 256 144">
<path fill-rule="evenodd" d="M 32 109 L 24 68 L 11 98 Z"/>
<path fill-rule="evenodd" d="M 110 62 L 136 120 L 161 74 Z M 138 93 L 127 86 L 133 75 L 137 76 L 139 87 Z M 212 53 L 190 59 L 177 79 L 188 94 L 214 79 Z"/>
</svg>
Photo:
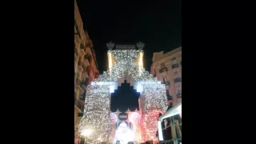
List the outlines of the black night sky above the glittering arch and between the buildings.
<svg viewBox="0 0 256 144">
<path fill-rule="evenodd" d="M 168 52 L 182 46 L 181 0 L 165 2 L 77 0 L 77 2 L 84 30 L 88 31 L 94 43 L 100 74 L 106 71 L 107 67 L 106 42 L 111 41 L 115 44 L 144 42 L 146 46 L 143 65 L 148 71 L 154 52 L 162 50 Z M 130 105 L 123 98 L 114 98 L 111 102 L 113 106 L 118 106 L 118 103 L 125 103 L 121 106 L 123 109 Z"/>
</svg>

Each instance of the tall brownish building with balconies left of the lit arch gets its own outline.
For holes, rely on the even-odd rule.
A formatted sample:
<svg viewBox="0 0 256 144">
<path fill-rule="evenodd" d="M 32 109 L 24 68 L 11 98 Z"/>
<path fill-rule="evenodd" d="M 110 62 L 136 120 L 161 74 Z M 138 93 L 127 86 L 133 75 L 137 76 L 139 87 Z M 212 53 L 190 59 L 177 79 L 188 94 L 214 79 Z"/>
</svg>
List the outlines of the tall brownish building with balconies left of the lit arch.
<svg viewBox="0 0 256 144">
<path fill-rule="evenodd" d="M 83 30 L 77 2 L 74 1 L 74 143 L 79 143 L 78 125 L 82 118 L 86 86 L 98 78 L 93 43 Z"/>
</svg>

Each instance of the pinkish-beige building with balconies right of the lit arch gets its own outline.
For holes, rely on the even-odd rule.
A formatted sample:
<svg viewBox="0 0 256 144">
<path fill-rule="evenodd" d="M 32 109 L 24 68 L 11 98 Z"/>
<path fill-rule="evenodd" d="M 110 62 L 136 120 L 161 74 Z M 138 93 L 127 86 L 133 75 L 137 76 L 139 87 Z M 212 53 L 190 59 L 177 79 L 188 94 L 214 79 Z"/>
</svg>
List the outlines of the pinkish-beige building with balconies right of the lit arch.
<svg viewBox="0 0 256 144">
<path fill-rule="evenodd" d="M 166 85 L 168 104 L 182 101 L 182 47 L 164 54 L 154 53 L 150 73 Z"/>
</svg>

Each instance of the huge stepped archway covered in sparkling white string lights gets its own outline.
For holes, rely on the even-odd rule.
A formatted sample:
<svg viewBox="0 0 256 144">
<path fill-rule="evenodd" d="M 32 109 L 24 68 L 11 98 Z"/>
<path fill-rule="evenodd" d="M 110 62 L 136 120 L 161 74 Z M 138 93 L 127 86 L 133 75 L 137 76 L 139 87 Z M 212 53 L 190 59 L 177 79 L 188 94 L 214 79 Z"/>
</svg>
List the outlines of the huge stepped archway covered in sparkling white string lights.
<svg viewBox="0 0 256 144">
<path fill-rule="evenodd" d="M 149 74 L 143 68 L 143 50 L 144 44 L 139 42 L 139 50 L 130 49 L 135 46 L 118 46 L 118 50 L 112 50 L 114 43 L 107 44 L 109 68 L 87 86 L 84 114 L 79 123 L 79 132 L 83 130 L 92 130 L 87 142 L 97 143 L 101 138 L 102 142 L 110 142 L 110 125 L 114 122 L 114 115 L 110 115 L 110 94 L 117 90 L 118 79 L 128 75 L 131 82 L 139 92 L 142 98 L 142 122 L 141 126 L 146 126 L 143 130 L 149 130 L 147 137 L 157 131 L 157 121 L 152 121 L 150 117 L 155 117 L 154 112 L 164 111 L 167 108 L 165 85 L 158 82 L 153 75 Z M 134 115 L 136 117 L 136 115 Z M 110 121 L 111 118 L 111 121 Z M 151 126 L 147 124 L 152 121 Z"/>
</svg>

